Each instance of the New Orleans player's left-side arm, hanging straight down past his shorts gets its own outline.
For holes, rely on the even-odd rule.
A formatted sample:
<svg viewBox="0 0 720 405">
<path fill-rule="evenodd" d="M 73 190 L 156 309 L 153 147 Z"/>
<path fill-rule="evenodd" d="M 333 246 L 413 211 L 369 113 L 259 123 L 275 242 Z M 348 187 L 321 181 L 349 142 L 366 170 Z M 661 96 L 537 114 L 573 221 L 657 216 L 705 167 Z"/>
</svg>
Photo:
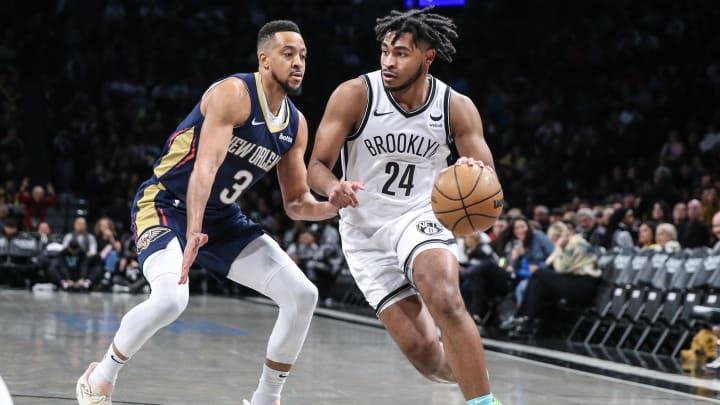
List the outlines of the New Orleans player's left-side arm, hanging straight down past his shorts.
<svg viewBox="0 0 720 405">
<path fill-rule="evenodd" d="M 202 233 L 205 206 L 215 175 L 225 160 L 233 127 L 242 125 L 250 115 L 250 97 L 239 79 L 227 79 L 210 90 L 201 102 L 205 116 L 198 143 L 197 157 L 187 191 L 187 244 L 183 252 L 180 284 L 187 282 L 190 266 L 198 251 L 207 243 Z"/>
</svg>

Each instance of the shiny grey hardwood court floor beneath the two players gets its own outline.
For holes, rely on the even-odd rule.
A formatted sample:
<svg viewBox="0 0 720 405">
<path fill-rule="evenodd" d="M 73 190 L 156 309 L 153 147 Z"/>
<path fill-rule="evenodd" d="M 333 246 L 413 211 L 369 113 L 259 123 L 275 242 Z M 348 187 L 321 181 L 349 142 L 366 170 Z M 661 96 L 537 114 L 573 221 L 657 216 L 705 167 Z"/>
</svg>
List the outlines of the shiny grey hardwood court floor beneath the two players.
<svg viewBox="0 0 720 405">
<path fill-rule="evenodd" d="M 15 404 L 75 403 L 75 380 L 142 299 L 0 290 L 0 375 Z M 270 305 L 192 296 L 122 370 L 114 403 L 240 404 L 256 385 L 275 315 Z M 487 358 L 505 405 L 720 403 L 495 351 Z M 384 330 L 326 316 L 313 320 L 283 395 L 284 405 L 464 403 L 456 386 L 420 377 Z"/>
</svg>

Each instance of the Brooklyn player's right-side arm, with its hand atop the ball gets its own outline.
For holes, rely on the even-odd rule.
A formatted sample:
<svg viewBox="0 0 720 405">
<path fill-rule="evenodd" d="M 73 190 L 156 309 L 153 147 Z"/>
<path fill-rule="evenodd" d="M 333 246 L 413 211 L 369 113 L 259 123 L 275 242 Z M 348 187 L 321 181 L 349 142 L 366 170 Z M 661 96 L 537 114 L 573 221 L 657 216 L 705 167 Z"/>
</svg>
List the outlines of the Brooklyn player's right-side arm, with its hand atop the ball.
<svg viewBox="0 0 720 405">
<path fill-rule="evenodd" d="M 483 135 L 480 113 L 469 97 L 457 92 L 450 95 L 450 131 L 455 136 L 460 156 L 482 161 L 495 168 L 492 153 Z"/>
</svg>

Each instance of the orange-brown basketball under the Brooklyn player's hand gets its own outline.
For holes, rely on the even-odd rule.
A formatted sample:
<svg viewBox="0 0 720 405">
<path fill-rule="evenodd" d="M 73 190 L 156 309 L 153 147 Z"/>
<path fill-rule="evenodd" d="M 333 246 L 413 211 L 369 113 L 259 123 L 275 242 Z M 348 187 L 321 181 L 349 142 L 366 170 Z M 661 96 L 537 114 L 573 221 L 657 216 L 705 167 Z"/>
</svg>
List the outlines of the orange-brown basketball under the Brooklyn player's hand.
<svg viewBox="0 0 720 405">
<path fill-rule="evenodd" d="M 497 175 L 479 165 L 455 165 L 440 173 L 430 199 L 437 219 L 456 236 L 487 230 L 503 209 Z"/>
</svg>

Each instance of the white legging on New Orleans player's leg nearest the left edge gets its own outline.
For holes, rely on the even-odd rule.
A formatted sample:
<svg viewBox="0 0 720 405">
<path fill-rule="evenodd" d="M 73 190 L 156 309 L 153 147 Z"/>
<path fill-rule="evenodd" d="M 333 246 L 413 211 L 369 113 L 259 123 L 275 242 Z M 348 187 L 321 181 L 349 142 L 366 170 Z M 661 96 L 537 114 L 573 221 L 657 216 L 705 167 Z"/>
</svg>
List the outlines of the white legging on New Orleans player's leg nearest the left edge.
<svg viewBox="0 0 720 405">
<path fill-rule="evenodd" d="M 180 242 L 175 238 L 145 260 L 143 273 L 152 292 L 125 314 L 115 334 L 115 346 L 125 357 L 137 353 L 155 332 L 172 323 L 187 307 L 188 283 L 178 284 L 182 258 Z"/>
</svg>

